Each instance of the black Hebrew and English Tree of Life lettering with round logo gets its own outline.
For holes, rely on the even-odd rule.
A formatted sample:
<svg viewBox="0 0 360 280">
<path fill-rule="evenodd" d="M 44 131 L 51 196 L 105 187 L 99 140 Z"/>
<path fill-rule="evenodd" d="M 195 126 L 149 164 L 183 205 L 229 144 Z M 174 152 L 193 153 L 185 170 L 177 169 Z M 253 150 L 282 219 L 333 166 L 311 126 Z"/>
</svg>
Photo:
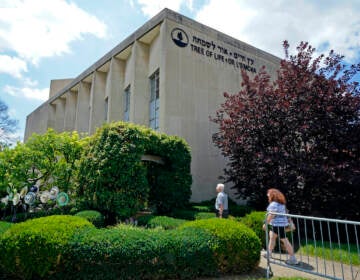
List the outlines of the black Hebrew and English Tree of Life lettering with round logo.
<svg viewBox="0 0 360 280">
<path fill-rule="evenodd" d="M 174 28 L 171 32 L 173 42 L 181 48 L 190 46 L 190 50 L 198 55 L 208 57 L 220 63 L 225 63 L 235 69 L 256 73 L 255 60 L 247 57 L 239 51 L 233 51 L 224 45 L 207 41 L 198 36 L 192 36 L 189 44 L 189 37 L 186 32 L 180 28 Z"/>
</svg>

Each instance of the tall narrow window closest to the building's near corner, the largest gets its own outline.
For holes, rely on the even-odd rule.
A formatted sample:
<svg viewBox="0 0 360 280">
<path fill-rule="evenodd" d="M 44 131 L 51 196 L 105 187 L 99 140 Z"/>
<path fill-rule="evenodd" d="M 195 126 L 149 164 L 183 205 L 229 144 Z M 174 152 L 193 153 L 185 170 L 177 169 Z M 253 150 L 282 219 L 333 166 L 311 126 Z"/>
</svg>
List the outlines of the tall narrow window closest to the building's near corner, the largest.
<svg viewBox="0 0 360 280">
<path fill-rule="evenodd" d="M 159 129 L 159 70 L 157 70 L 150 77 L 150 122 L 149 126 L 154 129 Z"/>
</svg>

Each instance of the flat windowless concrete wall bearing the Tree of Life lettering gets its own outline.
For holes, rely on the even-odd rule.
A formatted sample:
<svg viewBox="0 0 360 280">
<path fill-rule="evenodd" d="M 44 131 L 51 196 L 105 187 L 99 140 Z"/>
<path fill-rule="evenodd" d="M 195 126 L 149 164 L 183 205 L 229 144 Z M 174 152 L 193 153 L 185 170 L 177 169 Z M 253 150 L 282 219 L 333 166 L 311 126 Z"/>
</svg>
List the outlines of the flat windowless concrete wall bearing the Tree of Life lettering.
<svg viewBox="0 0 360 280">
<path fill-rule="evenodd" d="M 226 165 L 212 143 L 217 127 L 209 117 L 215 116 L 224 102 L 224 92 L 240 90 L 241 67 L 246 67 L 252 76 L 262 65 L 274 73 L 278 60 L 219 40 L 219 33 L 214 30 L 184 26 L 171 20 L 165 23 L 166 58 L 165 67 L 161 69 L 165 88 L 160 96 L 165 111 L 160 123 L 164 132 L 179 135 L 190 144 L 194 180 L 192 200 L 199 201 L 215 196 L 216 183 Z M 181 32 L 183 38 L 187 35 L 186 47 L 174 43 L 171 37 L 174 32 L 175 35 Z M 163 102 L 164 95 L 166 102 Z"/>
</svg>

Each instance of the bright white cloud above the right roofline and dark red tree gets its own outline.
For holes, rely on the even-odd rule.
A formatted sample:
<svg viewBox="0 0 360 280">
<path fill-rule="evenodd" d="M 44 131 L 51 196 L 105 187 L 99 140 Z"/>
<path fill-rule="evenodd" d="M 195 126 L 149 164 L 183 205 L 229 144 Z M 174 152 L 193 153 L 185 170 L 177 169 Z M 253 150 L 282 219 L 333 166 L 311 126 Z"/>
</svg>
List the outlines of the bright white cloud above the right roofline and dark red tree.
<svg viewBox="0 0 360 280">
<path fill-rule="evenodd" d="M 360 55 L 360 2 L 210 0 L 196 20 L 255 47 L 284 57 L 282 42 L 307 41 L 354 61 Z"/>
</svg>

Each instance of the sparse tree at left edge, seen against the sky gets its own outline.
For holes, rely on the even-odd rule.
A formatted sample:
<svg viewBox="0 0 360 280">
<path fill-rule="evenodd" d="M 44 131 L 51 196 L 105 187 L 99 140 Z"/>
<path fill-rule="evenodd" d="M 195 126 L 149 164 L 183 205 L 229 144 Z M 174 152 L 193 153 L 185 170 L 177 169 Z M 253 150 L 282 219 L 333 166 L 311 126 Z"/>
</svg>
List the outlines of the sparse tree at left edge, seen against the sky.
<svg viewBox="0 0 360 280">
<path fill-rule="evenodd" d="M 9 116 L 8 109 L 8 106 L 0 100 L 0 151 L 15 140 L 12 134 L 18 128 L 18 121 Z"/>
</svg>

